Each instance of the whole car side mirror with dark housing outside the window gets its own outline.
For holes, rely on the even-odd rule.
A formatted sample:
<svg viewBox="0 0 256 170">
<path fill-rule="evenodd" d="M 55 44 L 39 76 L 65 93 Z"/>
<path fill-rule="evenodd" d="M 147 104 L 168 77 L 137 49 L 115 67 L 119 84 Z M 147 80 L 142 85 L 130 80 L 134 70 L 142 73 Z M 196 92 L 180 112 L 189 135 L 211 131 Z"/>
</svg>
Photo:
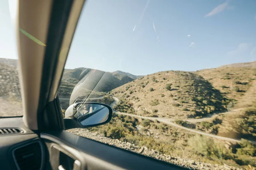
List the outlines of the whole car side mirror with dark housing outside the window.
<svg viewBox="0 0 256 170">
<path fill-rule="evenodd" d="M 113 110 L 109 105 L 97 102 L 75 102 L 65 112 L 65 129 L 104 125 L 111 120 L 112 113 Z"/>
</svg>

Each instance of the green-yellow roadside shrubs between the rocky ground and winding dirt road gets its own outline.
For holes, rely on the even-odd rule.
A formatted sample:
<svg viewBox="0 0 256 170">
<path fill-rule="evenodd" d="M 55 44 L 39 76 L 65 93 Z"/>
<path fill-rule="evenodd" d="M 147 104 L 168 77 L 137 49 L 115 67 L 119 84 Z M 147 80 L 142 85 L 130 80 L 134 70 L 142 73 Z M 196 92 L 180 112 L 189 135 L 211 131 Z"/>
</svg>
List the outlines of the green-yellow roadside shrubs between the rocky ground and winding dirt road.
<svg viewBox="0 0 256 170">
<path fill-rule="evenodd" d="M 240 143 L 222 142 L 162 122 L 116 114 L 109 124 L 90 130 L 176 157 L 235 167 L 256 166 L 256 146 L 245 139 Z"/>
</svg>

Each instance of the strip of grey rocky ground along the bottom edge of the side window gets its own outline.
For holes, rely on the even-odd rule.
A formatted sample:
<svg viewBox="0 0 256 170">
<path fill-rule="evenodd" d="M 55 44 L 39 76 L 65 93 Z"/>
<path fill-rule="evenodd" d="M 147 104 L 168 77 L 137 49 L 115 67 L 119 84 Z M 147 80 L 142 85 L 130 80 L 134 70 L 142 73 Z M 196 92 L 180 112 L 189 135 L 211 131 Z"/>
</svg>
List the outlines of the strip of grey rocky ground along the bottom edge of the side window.
<svg viewBox="0 0 256 170">
<path fill-rule="evenodd" d="M 166 161 L 171 164 L 176 164 L 181 167 L 187 167 L 191 170 L 240 170 L 239 168 L 230 167 L 226 164 L 224 164 L 224 165 L 207 164 L 207 163 L 202 163 L 202 162 L 198 162 L 198 161 L 182 159 L 179 157 L 175 158 L 173 156 L 157 152 L 156 150 L 149 149 L 145 146 L 139 147 L 139 146 L 136 146 L 129 142 L 122 142 L 122 141 L 119 141 L 118 139 L 110 139 L 110 138 L 107 138 L 99 133 L 93 133 L 86 129 L 76 128 L 76 129 L 70 129 L 67 131 L 74 133 L 76 135 L 79 135 L 79 136 L 83 136 L 83 137 L 86 137 L 89 139 L 93 139 L 93 140 L 105 143 L 105 144 L 109 144 L 109 145 L 112 145 L 115 147 L 121 147 L 123 149 L 130 150 L 132 152 L 140 153 L 145 156 L 149 156 L 149 157 L 152 157 L 155 159 Z"/>
</svg>

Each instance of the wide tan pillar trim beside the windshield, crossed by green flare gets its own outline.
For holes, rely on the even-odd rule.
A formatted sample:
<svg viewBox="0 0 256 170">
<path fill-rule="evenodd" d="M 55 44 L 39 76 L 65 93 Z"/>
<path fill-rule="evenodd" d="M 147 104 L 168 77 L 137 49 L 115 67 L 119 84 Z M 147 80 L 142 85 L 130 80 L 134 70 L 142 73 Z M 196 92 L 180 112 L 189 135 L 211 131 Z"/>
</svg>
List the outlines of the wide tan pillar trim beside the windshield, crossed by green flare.
<svg viewBox="0 0 256 170">
<path fill-rule="evenodd" d="M 37 109 L 46 47 L 31 40 L 19 29 L 21 28 L 45 44 L 52 0 L 20 0 L 17 6 L 16 33 L 23 122 L 29 129 L 37 130 Z"/>
</svg>

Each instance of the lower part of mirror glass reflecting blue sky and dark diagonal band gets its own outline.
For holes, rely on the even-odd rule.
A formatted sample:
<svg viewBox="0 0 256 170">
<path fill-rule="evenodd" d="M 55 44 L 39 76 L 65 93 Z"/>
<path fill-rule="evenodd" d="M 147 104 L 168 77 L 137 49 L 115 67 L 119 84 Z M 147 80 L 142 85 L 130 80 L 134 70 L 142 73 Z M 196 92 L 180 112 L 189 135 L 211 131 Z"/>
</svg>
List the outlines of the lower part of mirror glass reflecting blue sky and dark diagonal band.
<svg viewBox="0 0 256 170">
<path fill-rule="evenodd" d="M 104 107 L 93 113 L 89 113 L 79 117 L 79 121 L 83 126 L 96 125 L 99 123 L 106 122 L 108 120 L 108 116 L 109 116 L 109 110 L 107 107 Z"/>
</svg>

